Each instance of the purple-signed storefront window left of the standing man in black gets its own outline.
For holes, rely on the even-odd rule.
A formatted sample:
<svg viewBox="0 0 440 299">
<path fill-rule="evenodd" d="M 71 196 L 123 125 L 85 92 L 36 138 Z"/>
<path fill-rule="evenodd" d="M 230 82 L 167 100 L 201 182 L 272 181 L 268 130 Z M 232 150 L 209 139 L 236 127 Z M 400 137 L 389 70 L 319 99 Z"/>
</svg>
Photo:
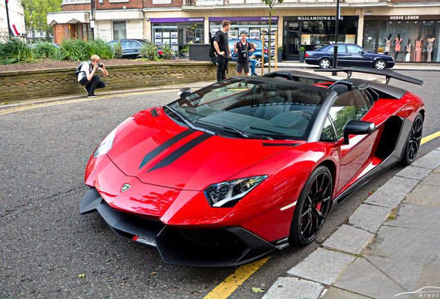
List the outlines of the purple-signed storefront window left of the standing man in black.
<svg viewBox="0 0 440 299">
<path fill-rule="evenodd" d="M 205 18 L 152 18 L 152 40 L 158 46 L 171 45 L 174 51 L 185 52 L 188 44 L 205 44 Z M 208 42 L 208 41 L 207 41 Z"/>
</svg>

